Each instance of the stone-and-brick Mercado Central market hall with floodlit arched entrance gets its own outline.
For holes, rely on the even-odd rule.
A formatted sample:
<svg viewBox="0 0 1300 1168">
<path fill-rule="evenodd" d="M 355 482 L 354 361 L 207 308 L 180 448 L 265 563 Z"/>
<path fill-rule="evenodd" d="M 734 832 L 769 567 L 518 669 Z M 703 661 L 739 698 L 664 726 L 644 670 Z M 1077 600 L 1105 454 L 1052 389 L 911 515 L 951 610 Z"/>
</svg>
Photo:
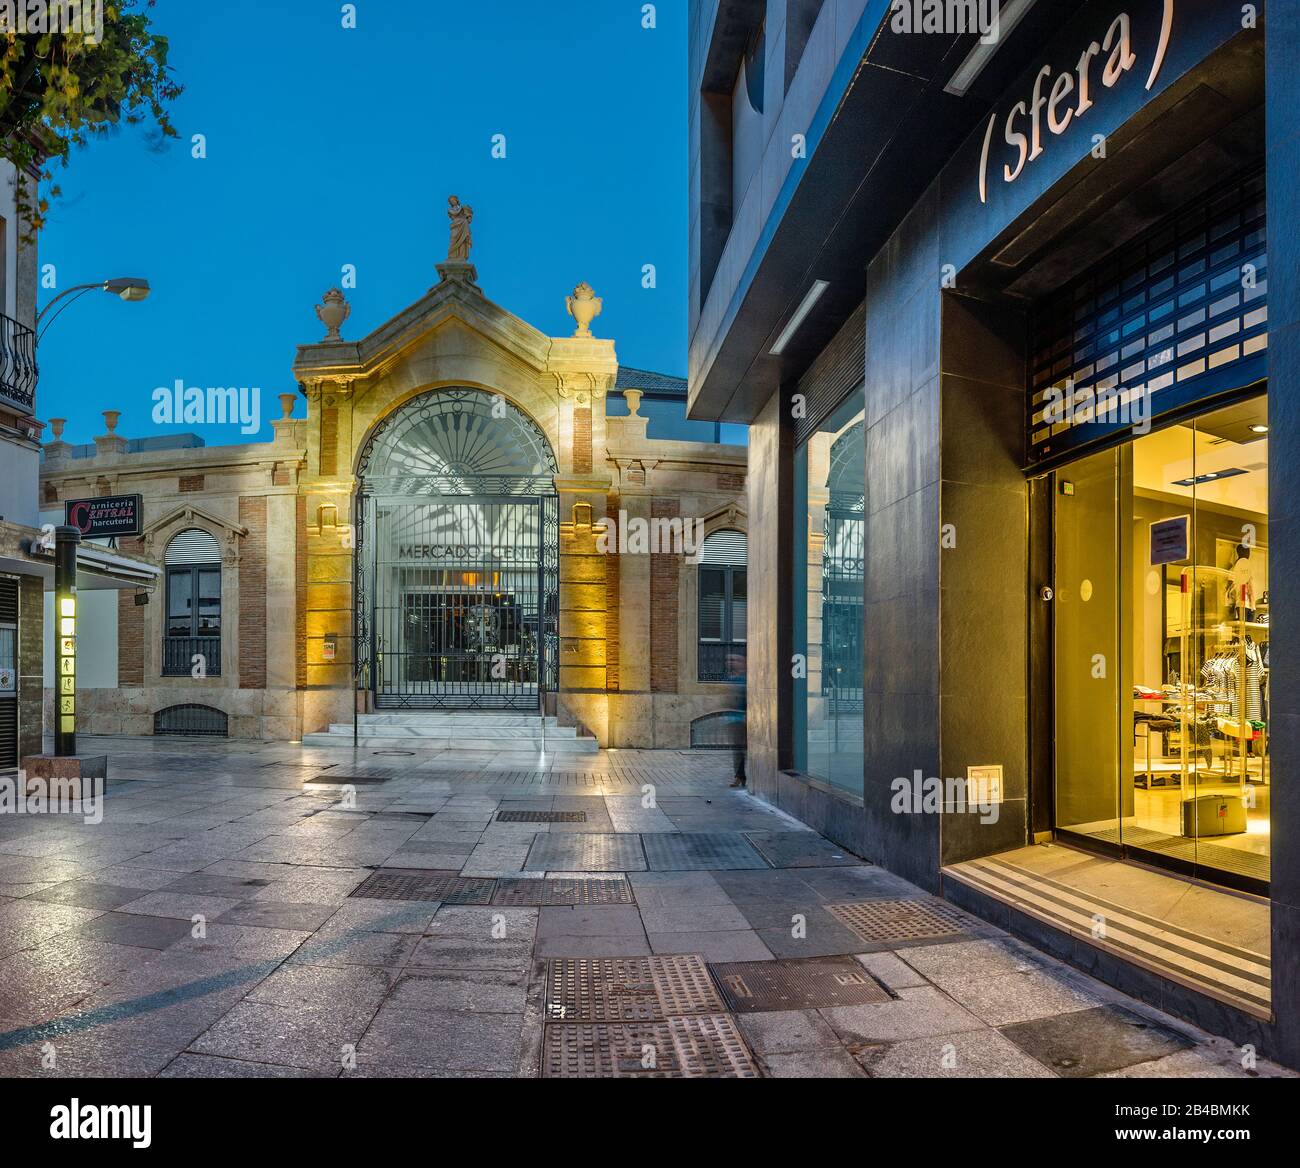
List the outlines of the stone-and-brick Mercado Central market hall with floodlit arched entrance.
<svg viewBox="0 0 1300 1168">
<path fill-rule="evenodd" d="M 270 442 L 131 440 L 107 411 L 78 447 L 52 421 L 42 519 L 125 516 L 117 549 L 160 572 L 82 598 L 83 732 L 578 752 L 734 737 L 744 446 L 686 420 L 684 380 L 619 365 L 585 285 L 556 338 L 468 263 L 439 273 L 359 341 L 332 290 Z M 48 670 L 46 685 L 48 717 Z"/>
</svg>

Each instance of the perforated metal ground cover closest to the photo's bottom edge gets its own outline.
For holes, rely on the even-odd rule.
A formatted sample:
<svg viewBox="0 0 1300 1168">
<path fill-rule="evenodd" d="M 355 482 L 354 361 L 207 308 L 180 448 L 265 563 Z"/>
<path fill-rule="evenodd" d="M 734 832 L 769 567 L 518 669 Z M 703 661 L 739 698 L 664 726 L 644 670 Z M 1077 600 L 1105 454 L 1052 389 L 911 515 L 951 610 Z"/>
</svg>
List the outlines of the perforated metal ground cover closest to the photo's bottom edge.
<svg viewBox="0 0 1300 1168">
<path fill-rule="evenodd" d="M 543 1078 L 758 1078 L 727 1015 L 660 1022 L 547 1022 Z"/>
</svg>

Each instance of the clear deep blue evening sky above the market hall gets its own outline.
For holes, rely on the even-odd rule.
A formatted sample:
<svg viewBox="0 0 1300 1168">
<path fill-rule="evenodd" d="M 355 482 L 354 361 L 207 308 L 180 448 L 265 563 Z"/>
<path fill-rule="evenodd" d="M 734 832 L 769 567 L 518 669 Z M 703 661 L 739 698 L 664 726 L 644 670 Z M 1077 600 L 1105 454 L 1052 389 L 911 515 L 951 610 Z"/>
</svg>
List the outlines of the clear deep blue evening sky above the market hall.
<svg viewBox="0 0 1300 1168">
<path fill-rule="evenodd" d="M 152 392 L 183 378 L 260 386 L 269 437 L 276 394 L 296 389 L 294 349 L 324 336 L 313 306 L 344 264 L 358 269 L 348 339 L 437 282 L 448 194 L 474 208 L 490 299 L 568 336 L 564 297 L 586 280 L 604 297 L 594 332 L 623 364 L 684 376 L 686 5 L 659 0 L 647 31 L 642 4 L 358 0 L 344 30 L 335 0 L 159 0 L 186 87 L 181 139 L 159 148 L 126 127 L 56 166 L 39 254 L 58 287 L 143 276 L 153 294 L 68 308 L 40 346 L 40 416 L 66 418 L 72 442 L 103 433 L 107 408 L 126 437 L 157 433 Z M 191 157 L 192 134 L 207 159 Z"/>
</svg>

